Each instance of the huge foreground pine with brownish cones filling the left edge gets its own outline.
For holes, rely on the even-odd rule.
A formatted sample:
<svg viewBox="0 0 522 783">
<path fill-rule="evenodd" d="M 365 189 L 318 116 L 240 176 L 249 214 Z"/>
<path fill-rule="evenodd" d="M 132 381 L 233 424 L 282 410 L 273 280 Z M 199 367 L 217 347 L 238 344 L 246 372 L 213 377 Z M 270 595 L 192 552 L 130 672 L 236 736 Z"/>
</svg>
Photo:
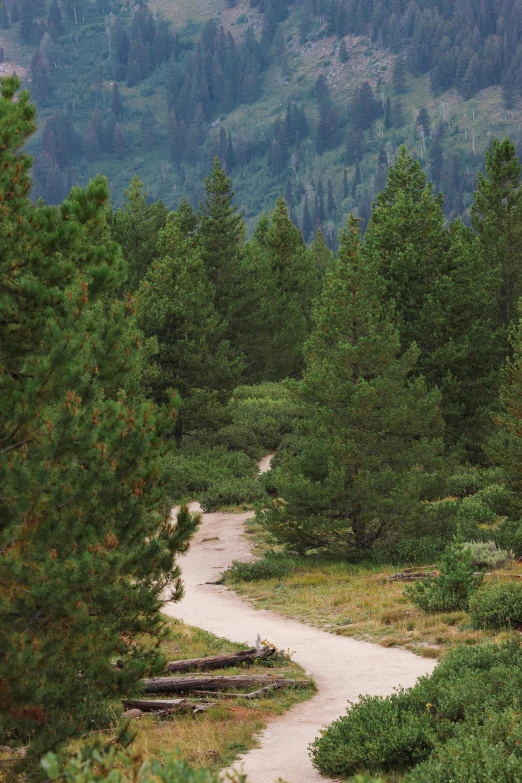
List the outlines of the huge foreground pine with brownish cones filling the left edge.
<svg viewBox="0 0 522 783">
<path fill-rule="evenodd" d="M 163 668 L 160 608 L 181 594 L 173 558 L 194 520 L 170 521 L 174 401 L 141 395 L 106 182 L 58 208 L 30 202 L 20 148 L 35 110 L 18 86 L 3 79 L 0 98 L 0 732 L 28 745 L 13 774 L 31 779 L 43 752 L 88 731 L 93 705 Z"/>
</svg>

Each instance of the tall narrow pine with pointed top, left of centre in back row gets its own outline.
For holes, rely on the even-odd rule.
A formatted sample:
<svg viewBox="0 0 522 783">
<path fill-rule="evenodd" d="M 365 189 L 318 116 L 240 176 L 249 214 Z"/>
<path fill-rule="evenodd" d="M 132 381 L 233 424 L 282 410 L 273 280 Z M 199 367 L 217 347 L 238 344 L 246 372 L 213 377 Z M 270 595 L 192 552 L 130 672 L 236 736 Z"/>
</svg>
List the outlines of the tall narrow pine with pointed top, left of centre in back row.
<svg viewBox="0 0 522 783">
<path fill-rule="evenodd" d="M 207 274 L 216 291 L 218 315 L 229 320 L 233 330 L 235 287 L 238 282 L 241 249 L 245 238 L 243 217 L 233 205 L 230 178 L 218 158 L 205 180 L 205 202 L 200 204 L 200 248 Z"/>
</svg>

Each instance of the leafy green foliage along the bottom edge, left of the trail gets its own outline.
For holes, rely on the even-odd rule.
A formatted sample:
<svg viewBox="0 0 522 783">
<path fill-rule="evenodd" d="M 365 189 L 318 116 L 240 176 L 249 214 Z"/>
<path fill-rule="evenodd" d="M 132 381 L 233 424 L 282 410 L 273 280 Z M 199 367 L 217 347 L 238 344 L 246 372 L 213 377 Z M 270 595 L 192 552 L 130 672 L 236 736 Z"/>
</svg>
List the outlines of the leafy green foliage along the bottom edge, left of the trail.
<svg viewBox="0 0 522 783">
<path fill-rule="evenodd" d="M 79 754 L 65 764 L 54 753 L 42 759 L 48 780 L 63 783 L 219 783 L 220 775 L 206 769 L 194 769 L 178 756 L 162 761 L 147 761 L 130 751 Z M 231 783 L 246 783 L 243 775 L 232 776 Z"/>
</svg>

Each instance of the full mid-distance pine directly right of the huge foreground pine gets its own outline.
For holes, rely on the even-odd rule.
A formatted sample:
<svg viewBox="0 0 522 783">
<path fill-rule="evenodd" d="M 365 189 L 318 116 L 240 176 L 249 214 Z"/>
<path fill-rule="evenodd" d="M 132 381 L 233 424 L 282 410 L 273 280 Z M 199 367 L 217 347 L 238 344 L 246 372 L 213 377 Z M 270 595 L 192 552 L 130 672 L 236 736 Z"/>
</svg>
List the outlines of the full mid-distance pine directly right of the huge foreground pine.
<svg viewBox="0 0 522 783">
<path fill-rule="evenodd" d="M 224 339 L 196 228 L 197 216 L 184 202 L 159 232 L 158 260 L 136 293 L 138 324 L 157 341 L 154 398 L 162 402 L 171 388 L 181 395 L 178 442 L 182 432 L 212 426 L 217 404 L 226 402 L 242 370 Z"/>
</svg>

